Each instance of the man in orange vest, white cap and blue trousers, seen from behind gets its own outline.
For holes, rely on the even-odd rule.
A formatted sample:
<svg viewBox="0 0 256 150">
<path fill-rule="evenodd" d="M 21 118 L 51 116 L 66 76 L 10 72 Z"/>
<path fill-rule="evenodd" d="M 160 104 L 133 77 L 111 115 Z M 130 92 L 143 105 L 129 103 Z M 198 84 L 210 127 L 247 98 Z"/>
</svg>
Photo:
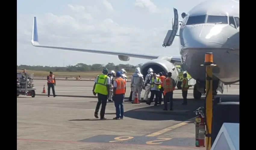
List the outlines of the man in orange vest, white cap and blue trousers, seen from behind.
<svg viewBox="0 0 256 150">
<path fill-rule="evenodd" d="M 117 71 L 117 78 L 114 81 L 113 100 L 116 107 L 116 117 L 114 120 L 123 119 L 123 99 L 126 92 L 126 81 L 121 77 L 121 72 Z"/>
</svg>

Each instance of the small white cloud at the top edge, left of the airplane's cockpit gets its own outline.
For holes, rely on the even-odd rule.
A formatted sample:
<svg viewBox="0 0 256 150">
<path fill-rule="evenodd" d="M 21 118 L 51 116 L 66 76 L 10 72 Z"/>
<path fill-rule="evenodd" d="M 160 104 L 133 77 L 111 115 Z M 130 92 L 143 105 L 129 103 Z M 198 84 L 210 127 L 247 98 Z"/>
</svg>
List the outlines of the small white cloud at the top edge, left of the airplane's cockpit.
<svg viewBox="0 0 256 150">
<path fill-rule="evenodd" d="M 150 13 L 169 13 L 170 10 L 167 7 L 164 9 L 159 9 L 151 0 L 136 0 L 134 3 L 135 7 L 140 9 L 145 9 Z"/>
</svg>

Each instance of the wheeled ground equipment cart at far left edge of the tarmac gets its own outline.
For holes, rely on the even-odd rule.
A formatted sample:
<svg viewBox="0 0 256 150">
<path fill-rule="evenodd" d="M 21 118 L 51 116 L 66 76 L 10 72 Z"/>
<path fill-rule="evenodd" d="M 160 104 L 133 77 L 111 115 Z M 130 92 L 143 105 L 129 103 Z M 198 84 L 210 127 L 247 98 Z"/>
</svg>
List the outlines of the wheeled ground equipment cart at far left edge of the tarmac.
<svg viewBox="0 0 256 150">
<path fill-rule="evenodd" d="M 27 72 L 17 72 L 17 97 L 19 95 L 36 96 L 36 88 L 33 83 L 33 74 L 30 76 Z"/>
</svg>

